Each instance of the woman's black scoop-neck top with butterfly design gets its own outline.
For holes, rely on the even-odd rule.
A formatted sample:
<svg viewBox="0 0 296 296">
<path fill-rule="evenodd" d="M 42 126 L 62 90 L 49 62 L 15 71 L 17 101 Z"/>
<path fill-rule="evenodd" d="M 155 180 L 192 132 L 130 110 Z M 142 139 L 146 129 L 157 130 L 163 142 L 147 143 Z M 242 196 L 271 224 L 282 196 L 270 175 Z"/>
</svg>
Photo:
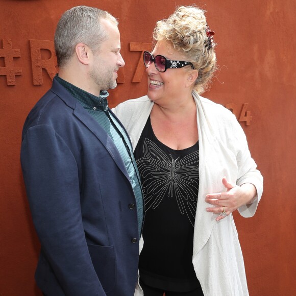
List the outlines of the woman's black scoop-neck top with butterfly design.
<svg viewBox="0 0 296 296">
<path fill-rule="evenodd" d="M 134 152 L 145 202 L 141 280 L 170 291 L 200 286 L 192 264 L 199 189 L 199 144 L 174 150 L 153 133 L 150 117 Z"/>
</svg>

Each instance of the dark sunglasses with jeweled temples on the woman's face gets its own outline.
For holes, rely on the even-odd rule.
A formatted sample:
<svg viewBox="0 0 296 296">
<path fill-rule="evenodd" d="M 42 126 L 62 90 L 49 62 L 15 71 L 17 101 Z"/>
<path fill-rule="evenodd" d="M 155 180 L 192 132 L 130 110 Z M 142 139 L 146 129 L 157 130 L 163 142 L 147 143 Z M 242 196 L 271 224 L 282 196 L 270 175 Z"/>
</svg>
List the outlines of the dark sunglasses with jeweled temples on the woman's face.
<svg viewBox="0 0 296 296">
<path fill-rule="evenodd" d="M 190 62 L 171 61 L 161 55 L 155 56 L 153 58 L 150 52 L 144 52 L 143 57 L 146 68 L 148 68 L 154 62 L 155 67 L 159 72 L 165 72 L 166 69 L 182 68 L 188 65 L 190 65 L 191 68 L 194 69 L 193 64 Z"/>
</svg>

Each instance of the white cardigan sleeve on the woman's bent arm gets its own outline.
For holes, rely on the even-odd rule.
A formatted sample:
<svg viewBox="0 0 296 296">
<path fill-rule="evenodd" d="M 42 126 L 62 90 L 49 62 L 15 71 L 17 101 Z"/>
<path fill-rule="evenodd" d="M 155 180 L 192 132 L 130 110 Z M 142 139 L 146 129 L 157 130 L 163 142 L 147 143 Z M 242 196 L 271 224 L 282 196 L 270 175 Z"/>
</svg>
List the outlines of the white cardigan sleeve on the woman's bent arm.
<svg viewBox="0 0 296 296">
<path fill-rule="evenodd" d="M 236 160 L 238 165 L 238 177 L 236 185 L 241 186 L 244 183 L 251 183 L 257 189 L 257 196 L 254 202 L 250 205 L 244 205 L 238 208 L 239 213 L 243 217 L 254 216 L 258 203 L 261 199 L 263 192 L 263 177 L 257 169 L 257 164 L 251 157 L 246 136 L 233 116 L 233 138 L 236 151 Z"/>
</svg>

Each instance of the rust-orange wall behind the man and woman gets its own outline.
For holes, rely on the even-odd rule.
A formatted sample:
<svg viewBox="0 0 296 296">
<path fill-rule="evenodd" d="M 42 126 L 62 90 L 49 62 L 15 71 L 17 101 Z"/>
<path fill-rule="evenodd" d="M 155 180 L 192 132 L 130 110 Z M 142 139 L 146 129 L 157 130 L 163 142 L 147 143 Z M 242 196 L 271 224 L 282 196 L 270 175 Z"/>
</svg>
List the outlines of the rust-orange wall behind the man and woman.
<svg viewBox="0 0 296 296">
<path fill-rule="evenodd" d="M 126 66 L 124 71 L 120 70 L 121 83 L 109 96 L 113 107 L 146 93 L 145 74 L 141 82 L 132 83 L 133 79 L 141 78 L 141 69 L 137 72 L 138 78 L 134 77 L 141 52 L 130 49 L 143 44 L 131 43 L 150 43 L 157 20 L 168 17 L 177 5 L 193 3 L 172 0 L 0 1 L 1 296 L 41 295 L 34 282 L 39 243 L 24 191 L 19 150 L 24 119 L 51 86 L 46 70 L 39 68 L 38 76 L 38 67 L 46 64 L 51 53 L 41 50 L 44 62 L 40 63 L 37 46 L 40 41 L 30 40 L 52 42 L 61 14 L 73 6 L 96 6 L 117 17 Z M 250 295 L 296 295 L 295 1 L 205 0 L 198 5 L 208 11 L 209 26 L 216 33 L 220 68 L 211 90 L 204 96 L 223 105 L 235 104 L 238 113 L 243 103 L 249 104 L 246 110 L 251 111 L 251 125 L 246 126 L 243 121 L 241 125 L 264 176 L 263 197 L 256 215 L 250 219 L 234 215 Z M 40 44 L 51 44 L 48 41 Z M 13 58 L 13 64 L 3 57 L 9 58 L 2 50 L 4 44 L 11 44 L 12 49 L 18 50 L 13 53 L 19 56 Z M 47 62 L 47 68 L 51 65 L 52 71 L 54 59 Z M 18 68 L 15 69 L 17 75 L 7 79 L 3 74 L 9 65 Z M 34 76 L 33 71 L 37 71 Z M 15 85 L 8 85 L 14 82 Z"/>
</svg>

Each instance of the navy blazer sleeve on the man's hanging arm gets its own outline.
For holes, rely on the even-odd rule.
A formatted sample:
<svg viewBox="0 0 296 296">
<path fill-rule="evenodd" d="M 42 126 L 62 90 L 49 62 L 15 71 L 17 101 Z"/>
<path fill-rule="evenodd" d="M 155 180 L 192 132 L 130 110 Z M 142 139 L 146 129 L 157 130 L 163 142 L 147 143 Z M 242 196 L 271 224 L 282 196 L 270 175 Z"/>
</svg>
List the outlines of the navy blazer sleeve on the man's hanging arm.
<svg viewBox="0 0 296 296">
<path fill-rule="evenodd" d="M 85 239 L 78 167 L 69 147 L 52 127 L 31 127 L 21 166 L 42 252 L 65 294 L 105 295 Z"/>
</svg>

